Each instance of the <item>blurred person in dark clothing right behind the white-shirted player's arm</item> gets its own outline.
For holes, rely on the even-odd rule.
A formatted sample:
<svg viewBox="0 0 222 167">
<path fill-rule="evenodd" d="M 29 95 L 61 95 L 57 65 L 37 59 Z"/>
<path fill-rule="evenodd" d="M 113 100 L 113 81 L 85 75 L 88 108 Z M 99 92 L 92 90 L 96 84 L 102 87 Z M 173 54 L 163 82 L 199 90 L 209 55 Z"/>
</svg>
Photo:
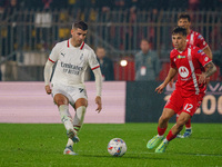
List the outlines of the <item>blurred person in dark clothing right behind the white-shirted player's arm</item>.
<svg viewBox="0 0 222 167">
<path fill-rule="evenodd" d="M 103 47 L 98 47 L 95 55 L 100 63 L 100 69 L 102 72 L 103 80 L 114 80 L 114 70 L 112 60 L 105 56 L 105 50 Z M 91 75 L 91 80 L 94 80 L 94 75 Z"/>
</svg>

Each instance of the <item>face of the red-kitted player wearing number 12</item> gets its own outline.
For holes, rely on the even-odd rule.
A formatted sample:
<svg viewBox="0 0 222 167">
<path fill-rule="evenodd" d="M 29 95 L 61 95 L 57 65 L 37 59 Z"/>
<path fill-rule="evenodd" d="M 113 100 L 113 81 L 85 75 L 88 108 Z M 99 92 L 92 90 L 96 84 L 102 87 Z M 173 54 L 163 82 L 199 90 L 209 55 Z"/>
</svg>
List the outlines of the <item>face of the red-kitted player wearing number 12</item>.
<svg viewBox="0 0 222 167">
<path fill-rule="evenodd" d="M 186 46 L 186 37 L 181 33 L 172 35 L 172 42 L 175 49 L 183 51 Z"/>
</svg>

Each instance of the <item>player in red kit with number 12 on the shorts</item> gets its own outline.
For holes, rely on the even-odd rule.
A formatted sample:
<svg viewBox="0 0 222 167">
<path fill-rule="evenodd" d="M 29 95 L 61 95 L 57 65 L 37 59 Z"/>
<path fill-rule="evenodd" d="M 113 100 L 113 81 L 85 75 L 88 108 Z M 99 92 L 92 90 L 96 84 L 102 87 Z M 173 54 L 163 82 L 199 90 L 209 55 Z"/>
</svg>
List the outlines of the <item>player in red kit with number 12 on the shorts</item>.
<svg viewBox="0 0 222 167">
<path fill-rule="evenodd" d="M 162 141 L 155 149 L 155 153 L 164 153 L 169 141 L 176 137 L 185 122 L 193 116 L 205 94 L 206 78 L 216 71 L 212 60 L 200 48 L 186 43 L 186 29 L 182 27 L 174 28 L 172 31 L 172 42 L 174 49 L 170 53 L 171 68 L 165 80 L 155 91 L 161 94 L 176 73 L 178 81 L 175 90 L 172 92 L 159 118 L 158 135 L 149 140 L 147 145 L 149 149 L 152 149 Z M 205 69 L 204 72 L 202 68 Z M 182 112 L 175 125 L 164 138 L 169 119 L 180 110 Z"/>
</svg>

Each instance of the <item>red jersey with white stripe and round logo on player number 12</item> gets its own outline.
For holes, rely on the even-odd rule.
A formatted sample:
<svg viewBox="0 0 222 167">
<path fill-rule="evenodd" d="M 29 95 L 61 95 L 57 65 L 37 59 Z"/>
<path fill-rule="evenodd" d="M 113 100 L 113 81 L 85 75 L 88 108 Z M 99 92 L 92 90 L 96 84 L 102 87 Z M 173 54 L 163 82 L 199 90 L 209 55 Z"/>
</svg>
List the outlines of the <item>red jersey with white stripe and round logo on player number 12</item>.
<svg viewBox="0 0 222 167">
<path fill-rule="evenodd" d="M 173 49 L 170 53 L 171 67 L 178 69 L 176 89 L 183 97 L 205 91 L 205 85 L 199 84 L 202 68 L 212 61 L 200 48 L 186 45 L 184 51 Z"/>
</svg>

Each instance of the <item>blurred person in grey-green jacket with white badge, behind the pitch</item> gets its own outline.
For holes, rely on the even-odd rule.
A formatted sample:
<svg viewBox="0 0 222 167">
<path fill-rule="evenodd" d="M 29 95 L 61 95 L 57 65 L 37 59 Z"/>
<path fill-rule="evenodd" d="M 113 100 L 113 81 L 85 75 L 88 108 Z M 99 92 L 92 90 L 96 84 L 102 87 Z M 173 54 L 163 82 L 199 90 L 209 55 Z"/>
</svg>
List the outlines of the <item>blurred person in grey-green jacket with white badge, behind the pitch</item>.
<svg viewBox="0 0 222 167">
<path fill-rule="evenodd" d="M 135 80 L 155 80 L 161 70 L 158 53 L 151 51 L 149 45 L 142 39 L 141 51 L 135 55 Z"/>
</svg>

